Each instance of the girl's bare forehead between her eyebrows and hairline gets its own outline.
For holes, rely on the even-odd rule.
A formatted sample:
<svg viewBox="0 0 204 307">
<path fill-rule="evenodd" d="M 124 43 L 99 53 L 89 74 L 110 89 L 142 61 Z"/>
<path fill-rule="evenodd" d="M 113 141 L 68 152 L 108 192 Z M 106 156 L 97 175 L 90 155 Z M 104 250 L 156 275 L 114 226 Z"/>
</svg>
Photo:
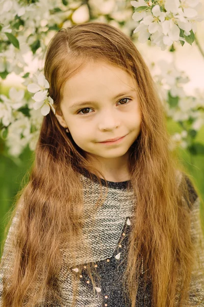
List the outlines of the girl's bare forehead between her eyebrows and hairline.
<svg viewBox="0 0 204 307">
<path fill-rule="evenodd" d="M 90 62 L 69 78 L 63 88 L 63 97 L 101 94 L 112 95 L 118 91 L 136 90 L 135 80 L 124 70 L 106 62 Z"/>
</svg>

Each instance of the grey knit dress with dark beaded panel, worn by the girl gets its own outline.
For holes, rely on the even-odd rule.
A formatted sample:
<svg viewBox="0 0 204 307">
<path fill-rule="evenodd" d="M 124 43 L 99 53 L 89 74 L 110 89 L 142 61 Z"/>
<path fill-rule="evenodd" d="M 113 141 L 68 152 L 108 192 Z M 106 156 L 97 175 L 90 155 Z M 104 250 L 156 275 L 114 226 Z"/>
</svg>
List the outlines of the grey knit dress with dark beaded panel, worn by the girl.
<svg viewBox="0 0 204 307">
<path fill-rule="evenodd" d="M 89 178 L 88 173 L 80 174 L 84 192 L 84 217 L 83 240 L 76 256 L 77 264 L 67 269 L 67 259 L 70 254 L 62 249 L 63 265 L 59 274 L 59 287 L 63 299 L 63 305 L 53 303 L 52 307 L 70 307 L 73 298 L 72 278 L 79 280 L 79 292 L 75 307 L 130 307 L 127 295 L 123 292 L 122 277 L 126 266 L 127 242 L 131 231 L 134 216 L 134 207 L 137 205 L 133 190 L 127 190 L 129 181 L 110 182 L 108 181 L 108 194 L 103 205 L 99 207 L 95 215 L 95 222 L 92 225 L 93 205 L 98 200 L 100 185 L 94 177 Z M 105 181 L 101 179 L 105 192 Z M 189 179 L 187 179 L 191 200 L 191 234 L 197 250 L 197 262 L 192 272 L 192 280 L 189 292 L 189 306 L 204 307 L 204 276 L 199 271 L 198 262 L 204 267 L 204 239 L 201 230 L 199 216 L 200 200 Z M 12 259 L 11 238 L 15 225 L 18 221 L 18 212 L 10 227 L 4 253 L 11 249 L 11 257 L 7 259 L 6 265 L 10 265 Z M 87 242 L 92 254 L 87 254 L 83 242 Z M 202 243 L 202 248 L 198 246 Z M 3 253 L 3 257 L 4 257 Z M 93 272 L 95 287 L 88 274 L 87 267 L 90 266 Z M 82 271 L 79 268 L 83 268 Z M 2 278 L 5 268 L 0 272 L 0 307 L 3 292 Z M 95 270 L 95 271 L 94 271 Z M 97 274 L 94 274 L 97 273 Z M 147 283 L 144 291 L 142 282 L 138 288 L 137 307 L 151 306 L 151 280 Z M 95 291 L 94 291 L 95 290 Z M 41 303 L 38 307 L 47 307 L 48 304 Z M 50 306 L 50 305 L 49 305 Z M 17 306 L 16 306 L 17 307 Z"/>
</svg>

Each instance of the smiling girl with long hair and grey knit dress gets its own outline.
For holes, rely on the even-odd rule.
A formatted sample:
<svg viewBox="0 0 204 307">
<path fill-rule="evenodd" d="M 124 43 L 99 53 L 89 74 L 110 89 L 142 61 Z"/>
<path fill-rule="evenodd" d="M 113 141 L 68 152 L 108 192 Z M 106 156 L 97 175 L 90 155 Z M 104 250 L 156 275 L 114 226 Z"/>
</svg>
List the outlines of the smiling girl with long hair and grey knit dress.
<svg viewBox="0 0 204 307">
<path fill-rule="evenodd" d="M 44 75 L 56 113 L 4 245 L 2 306 L 204 306 L 198 193 L 131 39 L 62 29 Z"/>
</svg>

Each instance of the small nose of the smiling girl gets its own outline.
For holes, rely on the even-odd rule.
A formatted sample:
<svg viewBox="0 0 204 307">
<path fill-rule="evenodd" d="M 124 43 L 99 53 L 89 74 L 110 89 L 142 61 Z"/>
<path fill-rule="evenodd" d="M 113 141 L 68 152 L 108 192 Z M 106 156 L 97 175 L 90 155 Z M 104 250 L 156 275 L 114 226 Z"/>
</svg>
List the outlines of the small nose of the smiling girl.
<svg viewBox="0 0 204 307">
<path fill-rule="evenodd" d="M 120 125 L 120 120 L 115 113 L 116 111 L 106 111 L 105 114 L 101 114 L 99 130 L 113 130 Z"/>
</svg>

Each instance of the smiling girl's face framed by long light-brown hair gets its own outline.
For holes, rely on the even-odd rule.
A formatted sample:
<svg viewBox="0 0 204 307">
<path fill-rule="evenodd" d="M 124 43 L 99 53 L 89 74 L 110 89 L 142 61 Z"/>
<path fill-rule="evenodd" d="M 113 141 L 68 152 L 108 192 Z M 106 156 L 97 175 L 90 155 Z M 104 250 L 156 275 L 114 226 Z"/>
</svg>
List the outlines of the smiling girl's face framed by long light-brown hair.
<svg viewBox="0 0 204 307">
<path fill-rule="evenodd" d="M 135 80 L 106 62 L 87 63 L 66 81 L 61 110 L 61 115 L 56 113 L 60 124 L 68 127 L 79 147 L 97 159 L 115 162 L 127 153 L 140 133 Z M 103 143 L 121 137 L 124 138 L 119 142 Z"/>
</svg>

